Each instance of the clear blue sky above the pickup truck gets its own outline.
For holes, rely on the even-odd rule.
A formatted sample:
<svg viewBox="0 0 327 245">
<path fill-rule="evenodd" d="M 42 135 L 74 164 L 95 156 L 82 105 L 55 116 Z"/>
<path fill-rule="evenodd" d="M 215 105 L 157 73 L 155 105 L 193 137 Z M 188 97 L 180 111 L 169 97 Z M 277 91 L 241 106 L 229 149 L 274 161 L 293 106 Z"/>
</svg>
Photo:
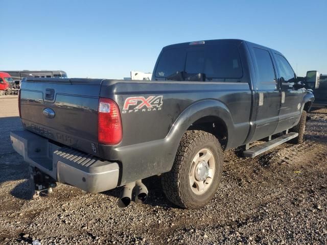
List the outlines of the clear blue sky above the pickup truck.
<svg viewBox="0 0 327 245">
<path fill-rule="evenodd" d="M 327 1 L 0 0 L 0 70 L 68 77 L 152 72 L 162 46 L 239 38 L 283 53 L 298 76 L 327 74 Z"/>
</svg>

